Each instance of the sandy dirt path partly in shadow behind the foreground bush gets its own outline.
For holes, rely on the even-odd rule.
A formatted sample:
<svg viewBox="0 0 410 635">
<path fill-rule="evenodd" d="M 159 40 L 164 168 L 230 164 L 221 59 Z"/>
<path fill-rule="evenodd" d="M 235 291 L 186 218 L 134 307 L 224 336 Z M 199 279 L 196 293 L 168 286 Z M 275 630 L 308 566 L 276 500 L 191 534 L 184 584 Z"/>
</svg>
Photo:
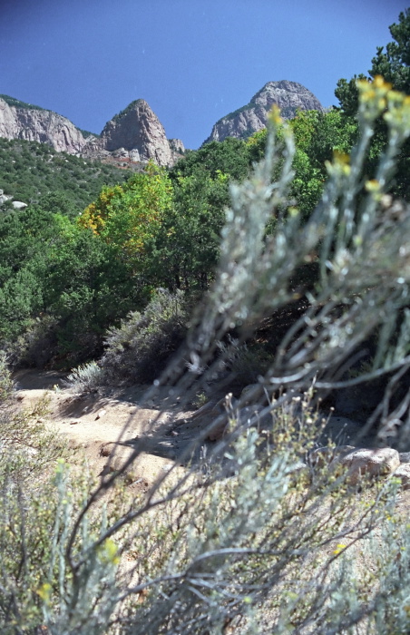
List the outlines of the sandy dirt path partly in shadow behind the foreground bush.
<svg viewBox="0 0 410 635">
<path fill-rule="evenodd" d="M 181 412 L 178 400 L 166 387 L 142 405 L 148 386 L 107 388 L 98 394 L 75 396 L 63 387 L 64 376 L 52 371 L 19 371 L 14 379 L 17 399 L 23 407 L 34 405 L 42 397 L 49 400 L 44 421 L 66 436 L 75 454 L 79 458 L 85 455 L 97 474 L 107 469 L 114 448 L 121 461 L 143 444 L 132 479 L 150 485 L 174 462 L 180 462 L 200 427 L 200 422 L 190 421 L 193 411 Z"/>
</svg>

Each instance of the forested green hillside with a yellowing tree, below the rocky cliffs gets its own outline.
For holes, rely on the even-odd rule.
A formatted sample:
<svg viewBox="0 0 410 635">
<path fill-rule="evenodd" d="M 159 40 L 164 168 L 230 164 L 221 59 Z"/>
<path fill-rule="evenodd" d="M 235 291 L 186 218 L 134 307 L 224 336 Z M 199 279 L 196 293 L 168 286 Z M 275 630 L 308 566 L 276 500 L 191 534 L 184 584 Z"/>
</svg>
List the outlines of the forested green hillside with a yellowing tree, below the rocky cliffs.
<svg viewBox="0 0 410 635">
<path fill-rule="evenodd" d="M 325 161 L 336 147 L 349 150 L 356 127 L 336 111 L 301 112 L 291 126 L 288 200 L 307 218 Z M 279 128 L 279 144 L 281 137 Z M 266 132 L 210 142 L 170 171 L 150 163 L 130 177 L 45 145 L 2 140 L 0 187 L 30 203 L 0 212 L 0 337 L 14 342 L 15 361 L 72 366 L 100 355 L 107 328 L 142 310 L 153 289 L 209 288 L 229 184 L 249 176 L 265 144 Z"/>
</svg>

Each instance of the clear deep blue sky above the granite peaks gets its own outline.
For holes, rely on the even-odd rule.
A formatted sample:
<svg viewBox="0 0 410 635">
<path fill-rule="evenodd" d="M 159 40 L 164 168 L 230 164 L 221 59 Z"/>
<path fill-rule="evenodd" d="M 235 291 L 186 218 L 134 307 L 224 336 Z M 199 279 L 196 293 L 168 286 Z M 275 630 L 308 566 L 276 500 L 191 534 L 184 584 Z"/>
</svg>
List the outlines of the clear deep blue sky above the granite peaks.
<svg viewBox="0 0 410 635">
<path fill-rule="evenodd" d="M 366 73 L 399 0 L 0 0 L 0 93 L 101 132 L 145 99 L 167 136 L 198 148 L 270 81 L 324 106 Z"/>
</svg>

